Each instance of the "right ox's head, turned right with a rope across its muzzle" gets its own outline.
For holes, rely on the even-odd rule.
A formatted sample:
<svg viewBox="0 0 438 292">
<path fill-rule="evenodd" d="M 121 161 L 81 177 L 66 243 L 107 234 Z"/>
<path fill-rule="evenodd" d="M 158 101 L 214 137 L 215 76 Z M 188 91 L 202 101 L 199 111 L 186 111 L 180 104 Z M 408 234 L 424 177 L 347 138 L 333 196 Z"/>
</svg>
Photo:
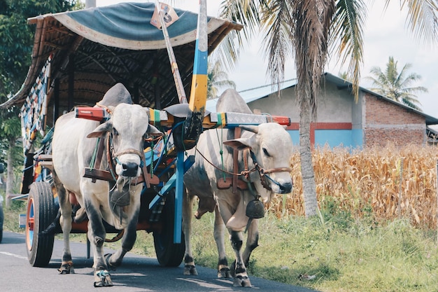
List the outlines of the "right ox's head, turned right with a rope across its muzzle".
<svg viewBox="0 0 438 292">
<path fill-rule="evenodd" d="M 255 183 L 257 193 L 264 202 L 271 200 L 274 193 L 285 194 L 292 191 L 290 176 L 290 157 L 292 156 L 292 139 L 285 127 L 278 123 L 264 123 L 258 126 L 241 125 L 243 130 L 254 134 L 244 133 L 239 139 L 224 141 L 224 144 L 238 150 L 249 148 L 255 163 L 260 166 L 262 179 L 267 185 Z M 255 174 L 253 174 L 254 176 Z M 255 182 L 255 179 L 252 179 Z M 260 180 L 259 180 L 260 181 Z M 270 190 L 269 190 L 270 189 Z"/>
</svg>

